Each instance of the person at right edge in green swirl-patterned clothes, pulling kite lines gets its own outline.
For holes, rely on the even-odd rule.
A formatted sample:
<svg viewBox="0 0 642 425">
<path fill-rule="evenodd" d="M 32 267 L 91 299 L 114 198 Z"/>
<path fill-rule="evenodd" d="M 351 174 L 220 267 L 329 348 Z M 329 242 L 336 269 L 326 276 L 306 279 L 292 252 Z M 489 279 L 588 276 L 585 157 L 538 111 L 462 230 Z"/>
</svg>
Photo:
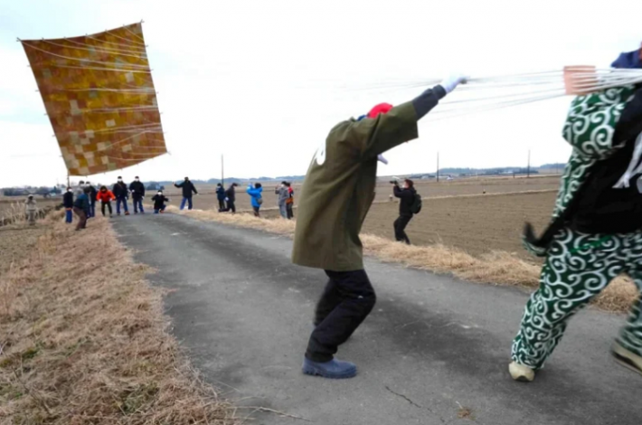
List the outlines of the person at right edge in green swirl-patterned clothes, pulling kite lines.
<svg viewBox="0 0 642 425">
<path fill-rule="evenodd" d="M 642 52 L 615 68 L 642 68 Z M 511 376 L 533 381 L 566 324 L 612 279 L 628 274 L 642 288 L 642 85 L 579 96 L 563 136 L 573 147 L 552 222 L 539 239 L 526 225 L 524 245 L 544 257 L 540 287 L 524 310 Z M 618 363 L 642 373 L 642 298 L 612 347 Z"/>
</svg>

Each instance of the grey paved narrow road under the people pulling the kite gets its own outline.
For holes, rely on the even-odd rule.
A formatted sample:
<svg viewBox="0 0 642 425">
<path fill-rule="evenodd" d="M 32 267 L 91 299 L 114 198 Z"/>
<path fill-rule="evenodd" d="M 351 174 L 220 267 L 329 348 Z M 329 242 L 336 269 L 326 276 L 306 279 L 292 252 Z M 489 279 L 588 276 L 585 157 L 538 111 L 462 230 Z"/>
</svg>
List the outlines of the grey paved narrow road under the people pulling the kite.
<svg viewBox="0 0 642 425">
<path fill-rule="evenodd" d="M 622 315 L 582 312 L 536 381 L 513 382 L 524 292 L 369 260 L 378 303 L 339 352 L 359 375 L 327 381 L 300 372 L 325 275 L 293 266 L 287 238 L 174 214 L 113 223 L 151 281 L 174 289 L 166 312 L 203 378 L 241 405 L 328 425 L 642 423 L 642 377 L 609 357 Z"/>
</svg>

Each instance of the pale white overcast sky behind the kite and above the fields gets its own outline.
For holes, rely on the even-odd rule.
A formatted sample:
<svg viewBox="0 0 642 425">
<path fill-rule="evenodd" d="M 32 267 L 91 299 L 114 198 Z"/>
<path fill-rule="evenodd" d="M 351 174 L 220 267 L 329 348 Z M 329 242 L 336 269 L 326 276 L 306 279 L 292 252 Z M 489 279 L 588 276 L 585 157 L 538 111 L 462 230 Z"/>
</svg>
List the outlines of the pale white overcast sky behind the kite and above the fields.
<svg viewBox="0 0 642 425">
<path fill-rule="evenodd" d="M 16 37 L 143 31 L 171 155 L 126 180 L 302 175 L 336 122 L 418 90 L 354 90 L 390 80 L 608 66 L 642 41 L 642 3 L 513 1 L 0 0 L 0 186 L 54 184 L 66 169 Z M 380 175 L 441 167 L 565 162 L 570 98 L 420 125 Z M 439 107 L 438 107 L 439 108 Z"/>
</svg>

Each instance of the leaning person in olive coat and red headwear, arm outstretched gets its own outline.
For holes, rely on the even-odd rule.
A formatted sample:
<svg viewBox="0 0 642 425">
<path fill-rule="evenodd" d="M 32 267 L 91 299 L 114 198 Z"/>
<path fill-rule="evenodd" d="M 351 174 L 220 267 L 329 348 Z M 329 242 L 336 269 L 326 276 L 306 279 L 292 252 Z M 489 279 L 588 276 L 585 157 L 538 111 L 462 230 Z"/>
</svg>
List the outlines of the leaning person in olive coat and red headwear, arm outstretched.
<svg viewBox="0 0 642 425">
<path fill-rule="evenodd" d="M 337 124 L 316 151 L 298 203 L 292 261 L 324 269 L 329 281 L 316 306 L 303 372 L 351 378 L 356 366 L 334 358 L 374 307 L 373 286 L 363 270 L 359 232 L 374 199 L 377 159 L 419 137 L 417 122 L 459 83 L 451 76 L 395 108 L 374 107 L 367 117 Z"/>
</svg>

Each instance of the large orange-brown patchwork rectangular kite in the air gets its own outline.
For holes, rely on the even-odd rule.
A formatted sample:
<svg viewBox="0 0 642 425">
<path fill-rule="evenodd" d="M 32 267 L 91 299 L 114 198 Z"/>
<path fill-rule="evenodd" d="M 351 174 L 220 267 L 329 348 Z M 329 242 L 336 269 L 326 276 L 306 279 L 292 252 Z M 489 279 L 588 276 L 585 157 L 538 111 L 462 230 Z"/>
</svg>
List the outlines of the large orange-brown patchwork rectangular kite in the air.
<svg viewBox="0 0 642 425">
<path fill-rule="evenodd" d="M 69 175 L 118 170 L 167 152 L 141 24 L 21 42 Z"/>
</svg>

